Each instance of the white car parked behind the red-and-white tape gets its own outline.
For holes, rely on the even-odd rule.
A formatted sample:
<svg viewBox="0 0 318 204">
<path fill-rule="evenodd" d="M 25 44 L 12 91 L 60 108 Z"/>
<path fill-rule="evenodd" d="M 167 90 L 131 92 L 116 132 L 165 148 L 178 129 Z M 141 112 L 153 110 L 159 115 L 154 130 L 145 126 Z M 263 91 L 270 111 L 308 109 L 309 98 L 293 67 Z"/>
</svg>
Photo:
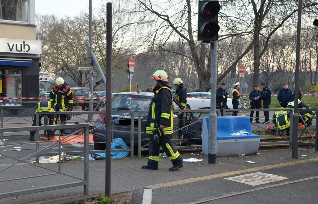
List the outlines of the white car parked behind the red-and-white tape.
<svg viewBox="0 0 318 204">
<path fill-rule="evenodd" d="M 191 92 L 187 93 L 187 109 L 199 109 L 210 107 L 210 92 Z M 209 98 L 208 98 L 209 97 Z M 215 97 L 213 97 L 215 99 Z M 227 98 L 227 107 L 233 109 L 232 98 Z"/>
</svg>

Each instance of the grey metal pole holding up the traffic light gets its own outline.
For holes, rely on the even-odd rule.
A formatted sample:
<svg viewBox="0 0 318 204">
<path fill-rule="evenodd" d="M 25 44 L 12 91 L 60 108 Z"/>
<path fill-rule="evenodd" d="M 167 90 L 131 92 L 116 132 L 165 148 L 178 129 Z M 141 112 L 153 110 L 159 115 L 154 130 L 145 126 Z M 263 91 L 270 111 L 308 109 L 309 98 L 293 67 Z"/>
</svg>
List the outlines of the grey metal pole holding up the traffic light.
<svg viewBox="0 0 318 204">
<path fill-rule="evenodd" d="M 217 94 L 217 65 L 218 65 L 218 41 L 211 42 L 211 96 Z M 214 98 L 214 97 L 213 97 Z M 217 162 L 217 114 L 216 114 L 216 100 L 211 101 L 211 111 L 209 114 L 209 148 L 208 148 L 208 163 L 215 164 Z"/>
</svg>

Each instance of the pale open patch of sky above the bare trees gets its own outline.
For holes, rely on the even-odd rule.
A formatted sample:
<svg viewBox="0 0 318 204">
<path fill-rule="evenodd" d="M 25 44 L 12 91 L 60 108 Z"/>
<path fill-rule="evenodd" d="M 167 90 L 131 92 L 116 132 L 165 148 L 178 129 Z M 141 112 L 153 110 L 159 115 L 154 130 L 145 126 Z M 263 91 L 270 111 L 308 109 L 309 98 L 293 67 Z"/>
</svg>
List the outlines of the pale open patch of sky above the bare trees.
<svg viewBox="0 0 318 204">
<path fill-rule="evenodd" d="M 110 1 L 92 0 L 93 9 Z M 81 11 L 89 12 L 89 0 L 35 0 L 35 13 L 55 14 L 58 17 L 77 16 Z"/>
</svg>

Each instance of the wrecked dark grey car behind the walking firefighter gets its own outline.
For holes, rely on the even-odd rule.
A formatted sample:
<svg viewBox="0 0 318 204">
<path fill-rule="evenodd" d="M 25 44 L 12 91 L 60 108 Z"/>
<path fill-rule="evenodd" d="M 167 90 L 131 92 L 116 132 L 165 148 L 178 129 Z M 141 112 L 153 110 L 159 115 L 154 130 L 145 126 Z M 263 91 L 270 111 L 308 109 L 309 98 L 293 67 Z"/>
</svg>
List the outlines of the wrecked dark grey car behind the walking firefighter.
<svg viewBox="0 0 318 204">
<path fill-rule="evenodd" d="M 134 110 L 134 146 L 138 145 L 138 110 L 149 110 L 149 105 L 151 99 L 154 97 L 154 93 L 152 92 L 123 92 L 116 93 L 112 97 L 112 110 Z M 173 98 L 173 109 L 180 110 L 182 109 L 181 104 Z M 97 121 L 94 123 L 93 130 L 93 141 L 94 142 L 105 142 L 106 135 L 106 127 L 105 127 L 105 108 L 103 108 L 101 113 L 98 116 Z M 127 116 L 125 116 L 127 115 Z M 142 146 L 149 143 L 150 135 L 145 134 L 144 129 L 147 122 L 148 112 L 142 114 L 141 118 L 141 143 Z M 183 137 L 184 131 L 178 131 L 178 128 L 184 126 L 186 114 L 183 112 L 173 113 L 173 126 L 174 126 L 174 134 L 172 135 L 172 141 L 174 144 L 179 144 L 178 138 Z M 179 120 L 183 118 L 184 120 Z M 130 147 L 130 115 L 126 113 L 112 113 L 112 136 L 113 138 L 122 138 L 125 143 Z M 103 150 L 105 149 L 105 143 L 94 143 L 95 150 Z"/>
</svg>

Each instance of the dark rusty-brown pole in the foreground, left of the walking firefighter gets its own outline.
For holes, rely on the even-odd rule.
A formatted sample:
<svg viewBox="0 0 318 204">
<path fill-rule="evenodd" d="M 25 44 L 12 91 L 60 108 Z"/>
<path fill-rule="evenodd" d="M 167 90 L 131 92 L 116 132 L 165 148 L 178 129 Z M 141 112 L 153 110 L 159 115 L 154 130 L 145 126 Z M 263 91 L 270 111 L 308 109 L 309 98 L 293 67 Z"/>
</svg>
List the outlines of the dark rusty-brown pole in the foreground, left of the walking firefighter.
<svg viewBox="0 0 318 204">
<path fill-rule="evenodd" d="M 106 4 L 106 158 L 105 158 L 105 195 L 110 197 L 111 176 L 111 93 L 112 93 L 112 3 Z"/>
</svg>

